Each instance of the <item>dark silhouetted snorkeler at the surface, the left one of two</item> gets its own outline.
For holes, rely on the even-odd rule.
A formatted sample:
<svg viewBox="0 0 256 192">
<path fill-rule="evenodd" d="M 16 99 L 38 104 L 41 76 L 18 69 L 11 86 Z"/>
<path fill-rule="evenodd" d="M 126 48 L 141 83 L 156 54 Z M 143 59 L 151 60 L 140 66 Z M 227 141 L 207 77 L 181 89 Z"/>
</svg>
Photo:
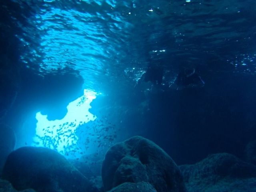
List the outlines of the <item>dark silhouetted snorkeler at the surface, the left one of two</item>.
<svg viewBox="0 0 256 192">
<path fill-rule="evenodd" d="M 164 76 L 164 70 L 162 67 L 157 65 L 148 66 L 146 72 L 140 77 L 137 84 L 141 82 L 152 82 L 153 85 L 162 84 Z"/>
</svg>

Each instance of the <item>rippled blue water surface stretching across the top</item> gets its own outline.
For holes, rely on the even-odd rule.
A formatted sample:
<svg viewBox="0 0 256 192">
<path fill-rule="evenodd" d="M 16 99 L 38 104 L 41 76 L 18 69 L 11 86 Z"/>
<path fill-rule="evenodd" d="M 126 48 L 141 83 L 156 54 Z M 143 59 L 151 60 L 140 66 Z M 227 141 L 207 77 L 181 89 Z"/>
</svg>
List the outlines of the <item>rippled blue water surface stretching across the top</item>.
<svg viewBox="0 0 256 192">
<path fill-rule="evenodd" d="M 41 75 L 73 68 L 85 88 L 132 85 L 150 63 L 169 79 L 181 64 L 256 71 L 252 0 L 14 2 L 24 65 Z"/>
</svg>

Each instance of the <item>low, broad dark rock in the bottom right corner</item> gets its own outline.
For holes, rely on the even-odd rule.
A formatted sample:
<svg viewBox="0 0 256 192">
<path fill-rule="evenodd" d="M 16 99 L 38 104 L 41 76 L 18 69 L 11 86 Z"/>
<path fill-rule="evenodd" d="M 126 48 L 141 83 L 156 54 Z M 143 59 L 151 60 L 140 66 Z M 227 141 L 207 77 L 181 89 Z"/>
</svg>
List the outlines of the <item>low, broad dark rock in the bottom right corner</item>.
<svg viewBox="0 0 256 192">
<path fill-rule="evenodd" d="M 256 166 L 232 154 L 212 154 L 180 169 L 188 192 L 256 191 Z"/>
</svg>

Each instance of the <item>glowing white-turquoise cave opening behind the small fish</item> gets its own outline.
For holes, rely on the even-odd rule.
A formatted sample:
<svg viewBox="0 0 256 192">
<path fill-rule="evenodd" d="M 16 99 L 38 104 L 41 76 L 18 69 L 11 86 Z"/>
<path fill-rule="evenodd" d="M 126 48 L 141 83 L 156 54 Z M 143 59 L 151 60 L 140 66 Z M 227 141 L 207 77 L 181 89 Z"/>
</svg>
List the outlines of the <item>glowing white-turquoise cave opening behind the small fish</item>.
<svg viewBox="0 0 256 192">
<path fill-rule="evenodd" d="M 36 136 L 34 136 L 35 146 L 57 150 L 64 156 L 68 156 L 70 152 L 78 153 L 76 129 L 96 119 L 96 116 L 89 112 L 90 103 L 96 95 L 96 92 L 85 89 L 83 96 L 68 104 L 68 112 L 60 120 L 49 121 L 47 115 L 42 115 L 41 112 L 36 113 L 38 122 Z"/>
</svg>

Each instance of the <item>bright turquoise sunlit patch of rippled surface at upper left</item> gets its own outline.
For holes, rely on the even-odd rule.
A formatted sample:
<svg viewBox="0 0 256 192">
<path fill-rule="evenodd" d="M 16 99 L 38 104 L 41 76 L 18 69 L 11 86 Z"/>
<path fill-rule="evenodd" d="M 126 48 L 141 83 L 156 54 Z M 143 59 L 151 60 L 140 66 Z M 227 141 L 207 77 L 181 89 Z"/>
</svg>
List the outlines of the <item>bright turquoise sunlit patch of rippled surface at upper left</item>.
<svg viewBox="0 0 256 192">
<path fill-rule="evenodd" d="M 84 66 L 88 70 L 102 70 L 102 57 L 106 56 L 104 43 L 108 40 L 102 27 L 92 21 L 92 15 L 51 8 L 40 14 L 40 18 L 42 23 L 38 29 L 47 30 L 41 37 L 45 56 L 40 70 L 50 72 L 69 65 L 81 72 Z"/>
</svg>

